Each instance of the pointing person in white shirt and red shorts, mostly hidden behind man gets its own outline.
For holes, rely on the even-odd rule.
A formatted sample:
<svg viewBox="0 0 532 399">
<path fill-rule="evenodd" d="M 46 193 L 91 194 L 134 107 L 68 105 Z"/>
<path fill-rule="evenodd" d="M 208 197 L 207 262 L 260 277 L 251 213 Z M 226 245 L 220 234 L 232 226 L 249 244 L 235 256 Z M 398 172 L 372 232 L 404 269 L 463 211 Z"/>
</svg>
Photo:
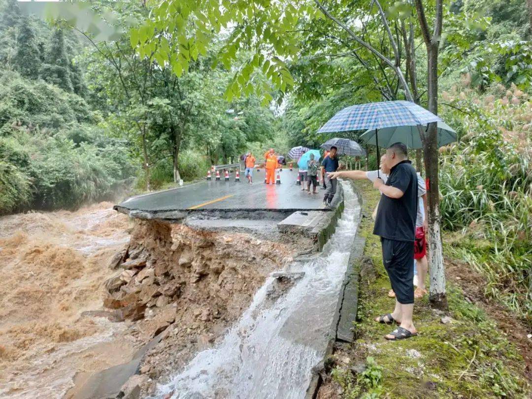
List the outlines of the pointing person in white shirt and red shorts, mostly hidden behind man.
<svg viewBox="0 0 532 399">
<path fill-rule="evenodd" d="M 363 170 L 345 170 L 338 172 L 328 173 L 328 177 L 331 179 L 343 177 L 353 180 L 362 180 L 368 179 L 372 182 L 375 182 L 377 178 L 382 179 L 385 183 L 388 179 L 389 170 L 386 170 L 383 164 L 383 155 L 380 159 L 380 169 L 363 171 Z M 418 214 L 415 220 L 415 243 L 414 243 L 414 259 L 417 262 L 417 271 L 418 271 L 418 287 L 414 291 L 415 298 L 421 298 L 423 295 L 427 294 L 427 289 L 425 288 L 425 280 L 427 277 L 427 242 L 425 239 L 425 233 L 428 230 L 428 217 L 427 217 L 427 188 L 425 185 L 425 180 L 421 177 L 421 174 L 418 172 Z M 390 289 L 388 296 L 395 297 L 393 289 Z"/>
</svg>

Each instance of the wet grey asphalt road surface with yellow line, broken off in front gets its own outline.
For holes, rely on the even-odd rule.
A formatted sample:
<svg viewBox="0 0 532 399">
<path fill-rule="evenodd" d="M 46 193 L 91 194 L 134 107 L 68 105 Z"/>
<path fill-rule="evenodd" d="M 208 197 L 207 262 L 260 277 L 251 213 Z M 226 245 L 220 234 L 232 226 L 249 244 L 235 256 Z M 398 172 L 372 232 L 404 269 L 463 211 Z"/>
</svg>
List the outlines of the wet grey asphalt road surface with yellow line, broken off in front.
<svg viewBox="0 0 532 399">
<path fill-rule="evenodd" d="M 297 170 L 283 169 L 279 173 L 281 184 L 264 184 L 264 169 L 253 171 L 253 184 L 248 184 L 244 173 L 240 182 L 235 174 L 225 181 L 202 181 L 189 186 L 163 190 L 128 198 L 118 204 L 128 210 L 177 211 L 177 210 L 323 210 L 324 190 L 307 194 L 296 185 Z M 311 189 L 312 191 L 312 189 Z"/>
</svg>

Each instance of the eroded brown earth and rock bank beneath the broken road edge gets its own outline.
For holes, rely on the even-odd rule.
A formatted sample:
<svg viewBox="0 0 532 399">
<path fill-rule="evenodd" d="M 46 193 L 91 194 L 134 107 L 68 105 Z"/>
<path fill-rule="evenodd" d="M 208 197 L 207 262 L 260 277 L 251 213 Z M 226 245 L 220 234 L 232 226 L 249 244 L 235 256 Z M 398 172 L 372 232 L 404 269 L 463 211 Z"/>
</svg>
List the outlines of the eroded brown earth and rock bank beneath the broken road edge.
<svg viewBox="0 0 532 399">
<path fill-rule="evenodd" d="M 115 271 L 104 284 L 104 306 L 110 320 L 131 324 L 136 339 L 148 342 L 163 332 L 139 366 L 143 394 L 214 345 L 272 271 L 314 246 L 306 238 L 281 243 L 238 231 L 136 220 L 129 245 L 111 261 Z M 77 385 L 69 396 L 84 389 Z"/>
</svg>

